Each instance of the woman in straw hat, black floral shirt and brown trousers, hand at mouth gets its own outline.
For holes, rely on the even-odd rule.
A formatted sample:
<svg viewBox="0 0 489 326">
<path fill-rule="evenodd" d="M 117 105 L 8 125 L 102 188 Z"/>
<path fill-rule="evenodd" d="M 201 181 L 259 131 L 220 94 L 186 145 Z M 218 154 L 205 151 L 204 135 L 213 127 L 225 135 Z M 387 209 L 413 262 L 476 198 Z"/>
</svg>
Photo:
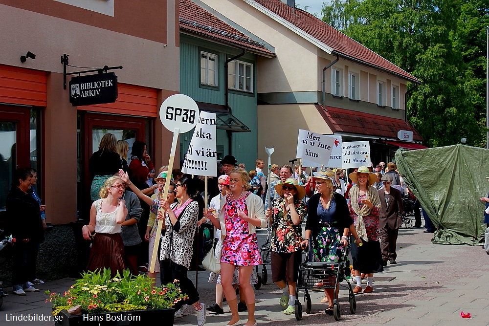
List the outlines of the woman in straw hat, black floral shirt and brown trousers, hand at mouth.
<svg viewBox="0 0 489 326">
<path fill-rule="evenodd" d="M 303 186 L 294 178 L 275 185 L 279 199 L 272 199 L 271 209 L 266 216 L 272 220 L 270 242 L 272 279 L 283 291 L 280 305 L 286 308 L 284 314 L 295 313 L 295 288 L 302 260 L 301 222 L 306 215 L 306 205 L 302 198 L 306 195 Z"/>
</svg>

